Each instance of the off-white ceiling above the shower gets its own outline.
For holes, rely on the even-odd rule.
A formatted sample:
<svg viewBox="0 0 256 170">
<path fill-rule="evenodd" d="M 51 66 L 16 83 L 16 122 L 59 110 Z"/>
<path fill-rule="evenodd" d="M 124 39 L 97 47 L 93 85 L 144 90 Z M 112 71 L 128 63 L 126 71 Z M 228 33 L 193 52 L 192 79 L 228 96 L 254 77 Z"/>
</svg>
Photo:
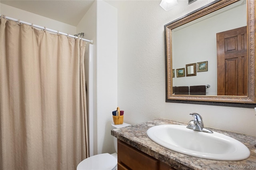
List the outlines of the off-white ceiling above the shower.
<svg viewBox="0 0 256 170">
<path fill-rule="evenodd" d="M 0 0 L 21 10 L 77 26 L 94 0 Z"/>
</svg>

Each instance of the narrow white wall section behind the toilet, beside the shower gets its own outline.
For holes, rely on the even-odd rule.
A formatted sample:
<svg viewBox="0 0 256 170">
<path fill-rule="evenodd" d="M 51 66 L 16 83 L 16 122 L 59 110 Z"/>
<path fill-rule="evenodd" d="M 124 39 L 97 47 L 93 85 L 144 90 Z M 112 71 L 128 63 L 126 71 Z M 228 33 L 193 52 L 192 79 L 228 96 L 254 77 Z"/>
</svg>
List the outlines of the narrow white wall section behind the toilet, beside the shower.
<svg viewBox="0 0 256 170">
<path fill-rule="evenodd" d="M 117 107 L 117 10 L 97 0 L 97 153 L 114 152 L 112 111 Z"/>
</svg>

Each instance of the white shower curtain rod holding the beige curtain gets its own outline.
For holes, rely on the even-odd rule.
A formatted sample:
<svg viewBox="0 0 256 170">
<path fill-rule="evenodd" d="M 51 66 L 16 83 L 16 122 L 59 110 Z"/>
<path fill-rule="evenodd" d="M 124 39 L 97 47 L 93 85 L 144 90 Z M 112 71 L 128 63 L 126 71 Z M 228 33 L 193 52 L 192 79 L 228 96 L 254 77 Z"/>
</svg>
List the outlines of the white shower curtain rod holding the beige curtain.
<svg viewBox="0 0 256 170">
<path fill-rule="evenodd" d="M 69 35 L 69 34 L 66 34 L 66 33 L 63 33 L 63 32 L 59 32 L 59 31 L 56 31 L 56 30 L 52 30 L 52 29 L 49 29 L 49 28 L 42 27 L 42 26 L 34 25 L 34 24 L 24 22 L 24 21 L 21 21 L 21 20 L 17 20 L 17 19 L 14 19 L 14 18 L 10 18 L 8 16 L 0 15 L 0 17 L 5 18 L 6 20 L 12 20 L 12 21 L 18 22 L 20 24 L 26 24 L 26 25 L 29 25 L 29 26 L 33 26 L 35 28 L 39 28 L 39 29 L 46 30 L 46 31 L 49 31 L 49 32 L 54 32 L 56 34 L 62 34 L 62 35 L 65 35 L 65 36 L 68 36 L 68 37 L 71 37 L 71 38 L 79 38 L 77 36 L 72 36 L 72 35 Z M 91 44 L 93 44 L 93 40 L 86 40 L 84 38 L 79 38 L 79 39 L 82 39 L 86 42 L 90 42 Z"/>
</svg>

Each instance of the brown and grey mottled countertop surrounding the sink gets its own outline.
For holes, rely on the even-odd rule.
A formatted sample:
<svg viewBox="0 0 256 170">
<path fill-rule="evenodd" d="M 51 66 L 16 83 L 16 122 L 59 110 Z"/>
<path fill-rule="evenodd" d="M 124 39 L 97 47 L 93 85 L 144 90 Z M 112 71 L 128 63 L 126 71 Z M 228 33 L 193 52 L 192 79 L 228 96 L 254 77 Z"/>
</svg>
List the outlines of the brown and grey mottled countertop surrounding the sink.
<svg viewBox="0 0 256 170">
<path fill-rule="evenodd" d="M 178 170 L 227 170 L 232 169 L 232 167 L 236 167 L 236 169 L 246 169 L 246 166 L 251 166 L 252 169 L 256 169 L 256 147 L 254 146 L 256 144 L 255 136 L 208 128 L 244 143 L 249 148 L 251 155 L 248 159 L 242 161 L 207 160 L 174 152 L 156 144 L 148 138 L 146 134 L 148 128 L 166 124 L 186 125 L 185 123 L 161 118 L 124 128 L 113 129 L 111 130 L 111 135 Z"/>
</svg>

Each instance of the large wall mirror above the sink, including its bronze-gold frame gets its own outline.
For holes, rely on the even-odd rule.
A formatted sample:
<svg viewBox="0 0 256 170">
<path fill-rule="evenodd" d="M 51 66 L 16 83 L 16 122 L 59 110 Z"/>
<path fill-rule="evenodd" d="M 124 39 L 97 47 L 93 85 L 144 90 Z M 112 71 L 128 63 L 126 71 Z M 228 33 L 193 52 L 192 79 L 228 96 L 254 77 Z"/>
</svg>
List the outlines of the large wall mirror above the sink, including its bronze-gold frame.
<svg viewBox="0 0 256 170">
<path fill-rule="evenodd" d="M 254 1 L 217 0 L 164 30 L 166 102 L 256 107 Z"/>
</svg>

